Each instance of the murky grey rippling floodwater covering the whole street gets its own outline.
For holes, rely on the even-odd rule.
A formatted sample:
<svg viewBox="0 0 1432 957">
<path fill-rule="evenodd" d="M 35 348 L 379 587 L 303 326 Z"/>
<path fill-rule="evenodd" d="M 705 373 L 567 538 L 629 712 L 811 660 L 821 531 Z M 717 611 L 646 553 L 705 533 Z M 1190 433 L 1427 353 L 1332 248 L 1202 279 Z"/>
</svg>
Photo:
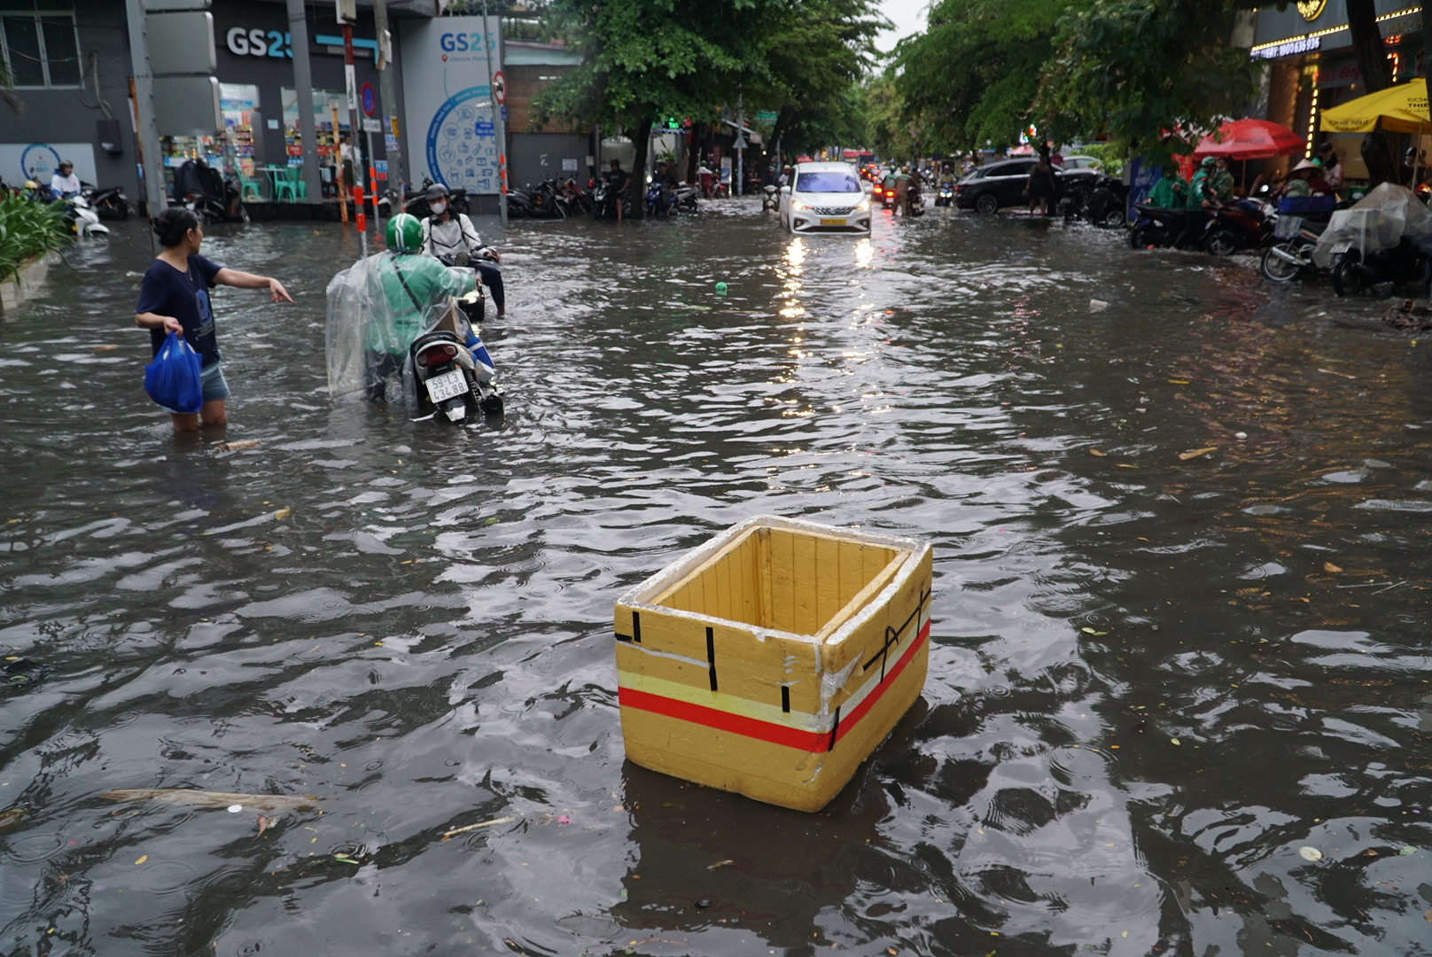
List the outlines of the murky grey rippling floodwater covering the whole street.
<svg viewBox="0 0 1432 957">
<path fill-rule="evenodd" d="M 329 404 L 337 225 L 206 242 L 298 299 L 216 295 L 259 448 L 142 393 L 137 223 L 0 327 L 0 953 L 1432 953 L 1386 301 L 1004 213 L 503 248 L 500 427 Z M 924 698 L 813 815 L 623 759 L 613 600 L 760 513 L 935 547 Z"/>
</svg>

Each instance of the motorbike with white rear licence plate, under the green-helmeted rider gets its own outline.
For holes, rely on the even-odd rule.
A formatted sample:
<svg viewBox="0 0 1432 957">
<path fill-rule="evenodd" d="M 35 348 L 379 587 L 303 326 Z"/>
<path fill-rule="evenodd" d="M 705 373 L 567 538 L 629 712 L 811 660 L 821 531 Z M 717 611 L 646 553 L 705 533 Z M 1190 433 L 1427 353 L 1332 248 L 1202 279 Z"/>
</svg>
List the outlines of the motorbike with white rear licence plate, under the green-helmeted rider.
<svg viewBox="0 0 1432 957">
<path fill-rule="evenodd" d="M 450 423 L 463 421 L 468 403 L 484 415 L 503 413 L 503 391 L 494 381 L 497 370 L 493 357 L 468 318 L 474 311 L 473 299 L 481 302 L 481 287 L 463 299 L 454 299 L 447 317 L 408 347 L 420 413 L 415 421 L 438 420 L 440 413 Z M 475 311 L 481 315 L 480 305 Z"/>
</svg>

